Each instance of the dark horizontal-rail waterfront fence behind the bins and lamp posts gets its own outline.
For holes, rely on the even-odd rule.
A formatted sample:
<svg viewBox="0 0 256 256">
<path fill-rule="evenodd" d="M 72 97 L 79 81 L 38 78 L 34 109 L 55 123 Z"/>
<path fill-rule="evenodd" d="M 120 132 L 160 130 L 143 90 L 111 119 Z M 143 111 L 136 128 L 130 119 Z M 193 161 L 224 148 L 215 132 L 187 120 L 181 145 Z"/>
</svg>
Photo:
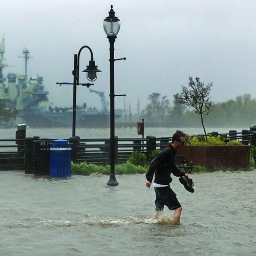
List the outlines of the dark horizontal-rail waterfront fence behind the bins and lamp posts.
<svg viewBox="0 0 256 256">
<path fill-rule="evenodd" d="M 242 132 L 229 131 L 225 134 L 209 133 L 210 136 L 220 136 L 226 142 L 229 140 L 241 141 L 244 145 L 256 146 L 256 131 L 243 130 Z M 78 136 L 66 139 L 72 143 L 71 159 L 75 163 L 88 162 L 94 164 L 110 164 L 110 139 L 81 139 Z M 49 166 L 49 143 L 53 139 L 33 138 L 0 139 L 0 170 L 25 170 L 25 173 L 34 174 L 36 166 Z M 115 137 L 115 163 L 125 163 L 134 151 L 144 153 L 148 159 L 155 149 L 172 141 L 172 137 L 147 136 L 146 138 L 118 138 Z M 40 150 L 40 146 L 44 148 Z M 38 160 L 39 159 L 39 160 Z M 45 159 L 45 160 L 44 160 Z M 39 161 L 39 162 L 38 162 Z M 40 172 L 39 172 L 40 173 Z"/>
</svg>

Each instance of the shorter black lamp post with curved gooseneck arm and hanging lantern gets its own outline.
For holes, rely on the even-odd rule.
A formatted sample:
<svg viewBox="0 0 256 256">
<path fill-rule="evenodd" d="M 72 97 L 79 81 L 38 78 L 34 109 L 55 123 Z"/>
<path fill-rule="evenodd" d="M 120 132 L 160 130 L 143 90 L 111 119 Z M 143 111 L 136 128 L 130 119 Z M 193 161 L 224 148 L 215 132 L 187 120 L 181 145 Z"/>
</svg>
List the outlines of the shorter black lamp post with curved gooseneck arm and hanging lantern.
<svg viewBox="0 0 256 256">
<path fill-rule="evenodd" d="M 72 136 L 74 137 L 76 135 L 76 87 L 81 86 L 87 86 L 90 87 L 93 85 L 93 83 L 79 83 L 79 62 L 80 62 L 80 53 L 81 51 L 87 48 L 91 53 L 91 60 L 89 61 L 89 65 L 87 66 L 86 70 L 83 70 L 82 72 L 87 72 L 87 79 L 89 81 L 95 81 L 98 76 L 98 72 L 101 72 L 98 69 L 98 66 L 95 66 L 95 61 L 93 60 L 93 52 L 92 49 L 89 46 L 82 46 L 78 52 L 78 54 L 74 55 L 74 70 L 72 71 L 73 74 L 73 83 L 69 82 L 62 82 L 57 84 L 73 84 L 73 119 L 72 119 Z"/>
</svg>

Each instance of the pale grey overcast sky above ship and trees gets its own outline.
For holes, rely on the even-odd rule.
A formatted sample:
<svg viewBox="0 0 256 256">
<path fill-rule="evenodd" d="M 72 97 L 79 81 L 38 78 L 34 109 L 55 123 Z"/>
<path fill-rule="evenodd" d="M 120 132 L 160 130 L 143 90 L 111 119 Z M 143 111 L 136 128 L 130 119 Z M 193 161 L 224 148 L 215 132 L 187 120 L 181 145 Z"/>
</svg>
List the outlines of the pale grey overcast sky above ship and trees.
<svg viewBox="0 0 256 256">
<path fill-rule="evenodd" d="M 90 46 L 102 71 L 91 88 L 109 100 L 109 41 L 103 19 L 113 4 L 121 29 L 115 42 L 115 93 L 136 112 L 153 92 L 173 95 L 188 77 L 213 82 L 211 98 L 226 101 L 249 93 L 256 97 L 256 1 L 254 0 L 1 0 L 0 36 L 5 34 L 7 72 L 22 73 L 24 48 L 30 51 L 30 76 L 44 76 L 49 99 L 72 105 L 74 54 Z M 80 71 L 90 53 L 84 49 Z M 80 82 L 87 82 L 80 74 Z M 116 97 L 123 108 L 124 97 Z M 89 89 L 78 88 L 77 103 L 99 106 Z"/>
</svg>

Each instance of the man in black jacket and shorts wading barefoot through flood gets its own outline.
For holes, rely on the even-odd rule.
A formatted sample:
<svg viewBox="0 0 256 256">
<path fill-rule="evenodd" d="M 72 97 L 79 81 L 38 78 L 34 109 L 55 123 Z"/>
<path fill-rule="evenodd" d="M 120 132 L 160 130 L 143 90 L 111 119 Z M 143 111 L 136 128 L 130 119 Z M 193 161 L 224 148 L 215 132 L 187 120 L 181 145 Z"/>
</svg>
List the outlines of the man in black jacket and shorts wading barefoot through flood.
<svg viewBox="0 0 256 256">
<path fill-rule="evenodd" d="M 162 151 L 151 161 L 150 168 L 146 173 L 146 186 L 150 188 L 155 174 L 153 185 L 156 193 L 156 212 L 152 220 L 158 218 L 163 211 L 164 205 L 170 210 L 174 210 L 173 223 L 180 224 L 180 215 L 182 207 L 177 199 L 177 195 L 173 189 L 170 188 L 172 178 L 170 174 L 173 173 L 177 177 L 188 176 L 187 173 L 182 172 L 174 163 L 177 150 L 185 144 L 185 133 L 176 131 L 173 135 L 172 144 L 166 144 Z"/>
</svg>

